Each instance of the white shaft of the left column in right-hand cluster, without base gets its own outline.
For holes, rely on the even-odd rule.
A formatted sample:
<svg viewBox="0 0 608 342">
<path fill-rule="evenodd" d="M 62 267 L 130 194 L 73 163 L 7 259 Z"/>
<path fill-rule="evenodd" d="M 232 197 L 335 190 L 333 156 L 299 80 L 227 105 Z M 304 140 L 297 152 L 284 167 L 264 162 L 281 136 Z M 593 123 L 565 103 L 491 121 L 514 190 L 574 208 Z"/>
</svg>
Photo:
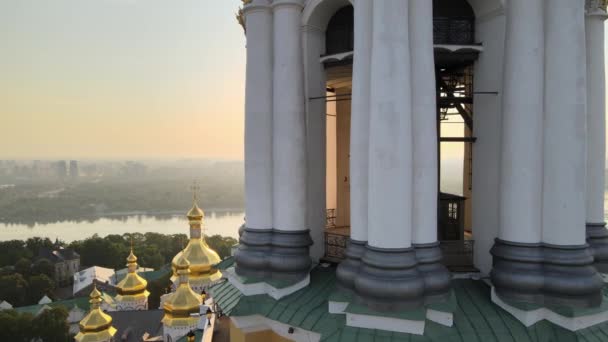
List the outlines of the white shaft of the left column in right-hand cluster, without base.
<svg viewBox="0 0 608 342">
<path fill-rule="evenodd" d="M 506 13 L 498 237 L 511 242 L 541 241 L 543 8 L 543 0 L 511 0 Z"/>
</svg>

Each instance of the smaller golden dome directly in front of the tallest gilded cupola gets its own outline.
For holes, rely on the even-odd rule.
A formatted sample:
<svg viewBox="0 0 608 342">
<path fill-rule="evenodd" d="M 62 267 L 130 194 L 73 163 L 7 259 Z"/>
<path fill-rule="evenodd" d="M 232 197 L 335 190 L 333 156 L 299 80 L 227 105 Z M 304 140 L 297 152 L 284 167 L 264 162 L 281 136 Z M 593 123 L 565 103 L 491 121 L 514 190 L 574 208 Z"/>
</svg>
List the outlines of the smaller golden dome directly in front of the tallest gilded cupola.
<svg viewBox="0 0 608 342">
<path fill-rule="evenodd" d="M 192 314 L 200 313 L 203 299 L 190 288 L 188 282 L 189 262 L 183 254 L 179 255 L 174 266 L 180 283 L 175 292 L 170 294 L 163 304 L 165 315 L 162 322 L 168 326 L 190 326 L 198 322 L 198 317 L 192 316 Z"/>
</svg>

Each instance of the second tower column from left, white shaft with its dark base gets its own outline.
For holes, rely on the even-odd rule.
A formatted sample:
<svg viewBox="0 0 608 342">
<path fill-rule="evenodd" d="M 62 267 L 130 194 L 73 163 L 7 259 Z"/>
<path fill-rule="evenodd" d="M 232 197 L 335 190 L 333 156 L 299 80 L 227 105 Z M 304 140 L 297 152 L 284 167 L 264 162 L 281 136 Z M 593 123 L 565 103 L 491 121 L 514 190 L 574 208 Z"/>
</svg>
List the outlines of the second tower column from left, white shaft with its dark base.
<svg viewBox="0 0 608 342">
<path fill-rule="evenodd" d="M 311 265 L 306 226 L 302 0 L 274 0 L 272 277 L 300 281 Z"/>
</svg>

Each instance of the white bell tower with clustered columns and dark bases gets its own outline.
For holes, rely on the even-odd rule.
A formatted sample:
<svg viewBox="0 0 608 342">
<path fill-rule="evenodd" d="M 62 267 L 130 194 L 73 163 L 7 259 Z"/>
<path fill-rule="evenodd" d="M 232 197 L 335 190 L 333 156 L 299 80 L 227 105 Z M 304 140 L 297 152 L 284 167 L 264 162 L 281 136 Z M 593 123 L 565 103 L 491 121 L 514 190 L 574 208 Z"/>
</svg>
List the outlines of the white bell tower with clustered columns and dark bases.
<svg viewBox="0 0 608 342">
<path fill-rule="evenodd" d="M 424 334 L 395 318 L 420 308 L 451 326 L 432 306 L 471 273 L 525 326 L 608 321 L 606 5 L 244 1 L 246 223 L 224 276 L 280 300 L 334 262 L 350 299 L 327 310 L 363 307 L 360 328 Z M 462 193 L 440 191 L 446 144 Z"/>
</svg>

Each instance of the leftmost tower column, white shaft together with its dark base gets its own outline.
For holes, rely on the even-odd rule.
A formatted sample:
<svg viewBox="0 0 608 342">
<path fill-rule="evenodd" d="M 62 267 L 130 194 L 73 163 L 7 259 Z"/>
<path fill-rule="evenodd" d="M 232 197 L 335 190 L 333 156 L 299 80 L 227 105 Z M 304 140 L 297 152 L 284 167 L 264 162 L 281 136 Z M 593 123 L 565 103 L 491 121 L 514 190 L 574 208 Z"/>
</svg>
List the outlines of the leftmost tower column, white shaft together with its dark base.
<svg viewBox="0 0 608 342">
<path fill-rule="evenodd" d="M 272 241 L 272 10 L 269 0 L 247 4 L 245 80 L 245 220 L 239 230 L 236 271 L 262 278 Z"/>
</svg>

